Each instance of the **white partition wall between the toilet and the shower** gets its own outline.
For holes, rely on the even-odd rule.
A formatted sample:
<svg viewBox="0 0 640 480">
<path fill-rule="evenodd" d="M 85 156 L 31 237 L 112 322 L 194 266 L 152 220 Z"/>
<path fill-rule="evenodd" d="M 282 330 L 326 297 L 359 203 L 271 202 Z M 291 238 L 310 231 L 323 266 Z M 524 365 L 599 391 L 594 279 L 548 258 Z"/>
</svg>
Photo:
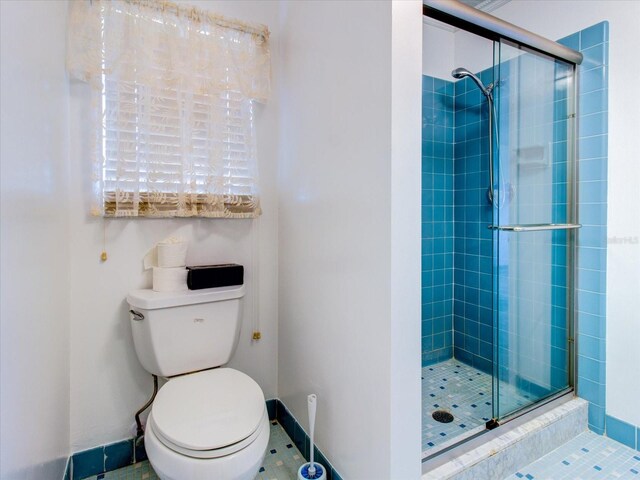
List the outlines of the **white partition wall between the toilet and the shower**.
<svg viewBox="0 0 640 480">
<path fill-rule="evenodd" d="M 420 474 L 420 8 L 281 11 L 278 389 L 345 478 Z"/>
</svg>

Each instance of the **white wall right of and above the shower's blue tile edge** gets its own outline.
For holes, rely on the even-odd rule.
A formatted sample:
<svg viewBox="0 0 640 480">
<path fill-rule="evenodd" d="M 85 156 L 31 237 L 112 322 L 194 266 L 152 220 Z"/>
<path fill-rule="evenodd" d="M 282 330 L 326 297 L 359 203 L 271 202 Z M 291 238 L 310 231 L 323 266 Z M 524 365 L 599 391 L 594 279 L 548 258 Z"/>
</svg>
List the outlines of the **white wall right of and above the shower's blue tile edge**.
<svg viewBox="0 0 640 480">
<path fill-rule="evenodd" d="M 640 425 L 640 2 L 519 0 L 492 12 L 551 39 L 609 21 L 607 414 Z"/>
</svg>

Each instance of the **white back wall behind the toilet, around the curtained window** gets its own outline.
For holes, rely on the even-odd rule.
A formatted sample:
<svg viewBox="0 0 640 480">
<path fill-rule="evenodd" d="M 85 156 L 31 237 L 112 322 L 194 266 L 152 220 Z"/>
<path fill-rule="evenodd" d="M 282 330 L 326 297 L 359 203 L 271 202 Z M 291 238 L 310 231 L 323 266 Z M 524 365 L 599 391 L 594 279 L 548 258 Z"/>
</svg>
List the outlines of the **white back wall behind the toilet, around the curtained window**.
<svg viewBox="0 0 640 480">
<path fill-rule="evenodd" d="M 260 322 L 262 340 L 251 342 L 253 241 L 251 220 L 125 220 L 103 221 L 88 216 L 90 160 L 86 109 L 87 86 L 71 88 L 71 449 L 76 452 L 131 437 L 133 415 L 151 394 L 150 374 L 140 366 L 131 340 L 125 296 L 150 287 L 142 257 L 168 235 L 189 239 L 188 263 L 238 262 L 245 265 L 247 296 L 240 345 L 229 366 L 253 377 L 266 398 L 277 396 L 277 203 L 276 162 L 279 89 L 278 4 L 271 1 L 190 1 L 271 30 L 273 92 L 256 109 L 260 188 L 264 214 L 260 219 Z M 62 37 L 64 38 L 64 37 Z M 109 259 L 100 262 L 106 226 Z"/>
</svg>

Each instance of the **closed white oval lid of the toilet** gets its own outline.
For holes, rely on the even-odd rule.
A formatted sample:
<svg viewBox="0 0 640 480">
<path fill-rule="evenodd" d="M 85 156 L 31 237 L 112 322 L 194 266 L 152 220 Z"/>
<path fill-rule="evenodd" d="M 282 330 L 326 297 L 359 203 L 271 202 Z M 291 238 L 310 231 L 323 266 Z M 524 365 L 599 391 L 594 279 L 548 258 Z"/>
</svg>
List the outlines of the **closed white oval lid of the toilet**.
<svg viewBox="0 0 640 480">
<path fill-rule="evenodd" d="M 260 425 L 265 401 L 248 375 L 216 368 L 172 378 L 153 402 L 154 427 L 188 450 L 213 450 L 240 442 Z"/>
</svg>

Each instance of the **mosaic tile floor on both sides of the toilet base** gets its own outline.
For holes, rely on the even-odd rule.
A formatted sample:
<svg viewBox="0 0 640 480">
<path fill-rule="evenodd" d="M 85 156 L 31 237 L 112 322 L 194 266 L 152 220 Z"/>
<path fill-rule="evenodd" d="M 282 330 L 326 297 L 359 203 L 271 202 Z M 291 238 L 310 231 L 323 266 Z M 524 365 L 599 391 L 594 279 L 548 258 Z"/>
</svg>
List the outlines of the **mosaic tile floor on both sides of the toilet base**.
<svg viewBox="0 0 640 480">
<path fill-rule="evenodd" d="M 269 446 L 264 463 L 255 480 L 295 480 L 304 457 L 278 422 L 271 422 Z M 135 463 L 112 472 L 87 477 L 84 480 L 157 480 L 148 461 Z"/>
</svg>

